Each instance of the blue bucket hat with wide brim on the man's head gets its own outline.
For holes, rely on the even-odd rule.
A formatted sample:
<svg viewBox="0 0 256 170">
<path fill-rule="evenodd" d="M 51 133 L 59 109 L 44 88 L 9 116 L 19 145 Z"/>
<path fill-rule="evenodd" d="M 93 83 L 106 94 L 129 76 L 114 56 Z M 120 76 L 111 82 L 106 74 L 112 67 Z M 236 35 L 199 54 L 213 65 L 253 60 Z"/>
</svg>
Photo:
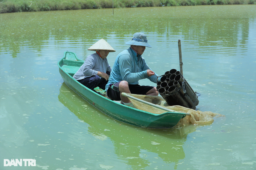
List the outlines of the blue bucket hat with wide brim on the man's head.
<svg viewBox="0 0 256 170">
<path fill-rule="evenodd" d="M 143 33 L 135 33 L 131 41 L 125 43 L 126 45 L 139 45 L 151 48 L 152 46 L 148 44 L 147 36 Z"/>
</svg>

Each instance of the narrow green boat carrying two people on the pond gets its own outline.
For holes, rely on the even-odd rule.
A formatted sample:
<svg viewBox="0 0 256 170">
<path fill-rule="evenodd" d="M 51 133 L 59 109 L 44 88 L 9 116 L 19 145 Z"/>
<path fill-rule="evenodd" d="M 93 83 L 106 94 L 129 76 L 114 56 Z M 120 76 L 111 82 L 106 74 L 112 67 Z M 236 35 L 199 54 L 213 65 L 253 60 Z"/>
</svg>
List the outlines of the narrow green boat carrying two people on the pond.
<svg viewBox="0 0 256 170">
<path fill-rule="evenodd" d="M 87 102 L 108 116 L 121 122 L 129 123 L 142 128 L 161 129 L 172 128 L 173 126 L 177 125 L 180 119 L 186 116 L 185 113 L 166 112 L 163 114 L 154 114 L 138 110 L 136 108 L 131 108 L 120 104 L 119 102 L 112 101 L 93 92 L 73 78 L 73 75 L 76 73 L 76 71 L 78 71 L 83 63 L 84 61 L 78 59 L 75 53 L 66 51 L 64 52 L 64 57 L 58 62 L 59 73 L 70 89 L 74 90 Z M 98 87 L 95 90 L 101 90 L 104 92 Z"/>
</svg>

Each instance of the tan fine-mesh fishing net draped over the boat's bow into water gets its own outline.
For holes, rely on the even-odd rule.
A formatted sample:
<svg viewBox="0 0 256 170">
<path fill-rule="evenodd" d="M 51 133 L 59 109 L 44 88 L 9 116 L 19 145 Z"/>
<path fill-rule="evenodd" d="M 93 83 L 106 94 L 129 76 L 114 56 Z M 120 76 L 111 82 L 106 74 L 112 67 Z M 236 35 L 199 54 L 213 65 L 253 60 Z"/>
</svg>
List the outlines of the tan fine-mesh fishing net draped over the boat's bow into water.
<svg viewBox="0 0 256 170">
<path fill-rule="evenodd" d="M 162 96 L 135 95 L 135 94 L 129 94 L 129 95 L 153 104 L 160 105 L 161 107 L 165 107 L 170 110 L 178 111 L 180 113 L 189 113 L 190 116 L 186 116 L 183 119 L 181 119 L 178 125 L 189 125 L 189 124 L 204 125 L 204 124 L 212 123 L 214 121 L 213 117 L 215 116 L 216 117 L 224 116 L 222 114 L 213 113 L 211 111 L 194 110 L 194 109 L 186 108 L 180 105 L 170 106 L 166 103 L 166 101 L 162 98 Z M 136 101 L 131 98 L 129 99 L 131 100 L 133 105 L 139 110 L 144 110 L 144 111 L 148 111 L 150 113 L 155 113 L 155 114 L 166 113 L 165 110 L 152 107 L 151 105 L 144 104 L 142 102 Z"/>
</svg>

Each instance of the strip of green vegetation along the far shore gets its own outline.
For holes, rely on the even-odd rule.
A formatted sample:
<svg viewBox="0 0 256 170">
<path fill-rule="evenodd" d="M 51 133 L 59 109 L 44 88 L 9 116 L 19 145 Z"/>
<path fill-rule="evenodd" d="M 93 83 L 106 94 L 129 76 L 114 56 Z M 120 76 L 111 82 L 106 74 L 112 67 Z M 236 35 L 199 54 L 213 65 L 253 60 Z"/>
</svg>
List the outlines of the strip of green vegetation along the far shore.
<svg viewBox="0 0 256 170">
<path fill-rule="evenodd" d="M 256 0 L 114 0 L 114 8 L 247 5 Z M 113 8 L 113 0 L 0 0 L 0 13 Z"/>
</svg>

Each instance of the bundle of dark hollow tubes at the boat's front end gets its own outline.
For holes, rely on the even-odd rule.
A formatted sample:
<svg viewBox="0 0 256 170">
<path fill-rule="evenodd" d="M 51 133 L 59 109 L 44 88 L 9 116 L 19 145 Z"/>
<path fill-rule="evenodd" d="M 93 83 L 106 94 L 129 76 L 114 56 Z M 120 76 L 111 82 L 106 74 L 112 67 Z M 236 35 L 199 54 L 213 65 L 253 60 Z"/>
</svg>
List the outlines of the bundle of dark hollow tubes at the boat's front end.
<svg viewBox="0 0 256 170">
<path fill-rule="evenodd" d="M 165 72 L 165 75 L 157 82 L 157 90 L 171 106 L 180 105 L 195 109 L 199 103 L 197 94 L 176 69 Z"/>
</svg>

